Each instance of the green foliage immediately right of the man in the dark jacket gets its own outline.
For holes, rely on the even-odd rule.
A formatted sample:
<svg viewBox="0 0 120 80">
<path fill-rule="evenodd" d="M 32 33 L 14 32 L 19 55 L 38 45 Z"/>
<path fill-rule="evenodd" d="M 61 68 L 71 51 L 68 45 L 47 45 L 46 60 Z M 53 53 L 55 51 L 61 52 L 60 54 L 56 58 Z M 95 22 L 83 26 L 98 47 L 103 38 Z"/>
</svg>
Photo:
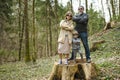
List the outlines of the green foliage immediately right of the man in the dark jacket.
<svg viewBox="0 0 120 80">
<path fill-rule="evenodd" d="M 88 23 L 88 30 L 89 34 L 92 35 L 104 27 L 104 18 L 100 16 L 100 13 L 94 11 L 92 8 L 88 10 L 89 14 L 89 23 Z"/>
</svg>

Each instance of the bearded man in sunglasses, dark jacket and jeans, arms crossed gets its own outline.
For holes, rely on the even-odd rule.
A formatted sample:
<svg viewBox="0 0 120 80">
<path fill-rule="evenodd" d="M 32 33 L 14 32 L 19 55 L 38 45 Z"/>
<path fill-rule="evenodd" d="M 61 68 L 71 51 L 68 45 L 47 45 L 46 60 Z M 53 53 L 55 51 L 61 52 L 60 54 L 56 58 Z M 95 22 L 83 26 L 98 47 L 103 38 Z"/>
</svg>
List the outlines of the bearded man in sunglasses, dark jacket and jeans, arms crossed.
<svg viewBox="0 0 120 80">
<path fill-rule="evenodd" d="M 76 23 L 75 30 L 79 33 L 79 37 L 81 38 L 81 41 L 85 48 L 86 61 L 90 63 L 91 58 L 90 58 L 90 50 L 88 46 L 88 35 L 87 35 L 88 15 L 84 13 L 83 6 L 80 6 L 78 8 L 78 12 L 79 14 L 73 16 L 73 21 Z M 74 53 L 72 52 L 72 56 L 70 59 L 73 59 L 73 56 Z"/>
</svg>

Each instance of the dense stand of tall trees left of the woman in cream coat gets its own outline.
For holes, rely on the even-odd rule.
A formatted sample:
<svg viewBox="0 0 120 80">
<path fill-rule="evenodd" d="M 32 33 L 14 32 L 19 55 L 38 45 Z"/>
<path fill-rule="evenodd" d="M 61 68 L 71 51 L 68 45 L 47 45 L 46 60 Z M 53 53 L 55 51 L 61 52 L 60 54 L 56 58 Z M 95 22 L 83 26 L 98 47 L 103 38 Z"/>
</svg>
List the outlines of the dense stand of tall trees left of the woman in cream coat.
<svg viewBox="0 0 120 80">
<path fill-rule="evenodd" d="M 57 52 L 59 22 L 68 9 L 59 5 L 58 0 L 52 0 L 55 6 L 50 1 L 0 0 L 0 48 L 5 52 L 3 57 L 9 61 L 23 58 L 29 61 L 36 59 L 35 54 L 45 57 Z"/>
</svg>

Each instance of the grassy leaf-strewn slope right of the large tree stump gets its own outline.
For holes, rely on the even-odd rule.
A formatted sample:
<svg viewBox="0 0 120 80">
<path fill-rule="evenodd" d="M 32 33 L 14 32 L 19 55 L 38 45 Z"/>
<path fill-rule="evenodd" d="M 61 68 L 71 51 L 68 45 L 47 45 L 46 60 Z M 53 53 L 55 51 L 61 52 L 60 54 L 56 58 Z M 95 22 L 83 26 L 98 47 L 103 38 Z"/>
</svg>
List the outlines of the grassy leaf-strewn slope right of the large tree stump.
<svg viewBox="0 0 120 80">
<path fill-rule="evenodd" d="M 91 57 L 100 69 L 98 79 L 119 80 L 120 79 L 120 25 L 104 32 L 101 36 L 93 35 L 92 41 L 105 40 L 100 47 L 91 52 Z"/>
</svg>

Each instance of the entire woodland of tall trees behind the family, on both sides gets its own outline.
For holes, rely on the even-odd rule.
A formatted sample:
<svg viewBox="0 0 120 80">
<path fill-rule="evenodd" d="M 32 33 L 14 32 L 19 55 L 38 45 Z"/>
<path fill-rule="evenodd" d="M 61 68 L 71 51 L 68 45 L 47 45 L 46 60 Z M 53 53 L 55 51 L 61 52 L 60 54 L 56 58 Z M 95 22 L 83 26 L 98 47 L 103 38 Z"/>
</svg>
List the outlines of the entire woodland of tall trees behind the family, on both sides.
<svg viewBox="0 0 120 80">
<path fill-rule="evenodd" d="M 64 19 L 68 10 L 76 14 L 73 1 L 69 0 L 67 5 L 63 6 L 58 0 L 0 0 L 0 66 L 11 62 L 20 65 L 24 61 L 35 63 L 40 60 L 44 66 L 49 67 L 51 64 L 46 65 L 44 61 L 57 55 L 60 20 Z M 82 0 L 77 1 L 81 3 Z M 100 1 L 103 3 L 104 0 Z M 95 11 L 92 3 L 88 8 L 88 3 L 89 0 L 85 0 L 85 12 L 89 14 L 89 36 L 95 36 L 98 32 L 102 34 L 103 30 L 112 28 L 120 21 L 120 0 L 106 0 L 110 16 L 107 22 L 104 12 Z M 101 5 L 104 9 L 104 5 Z M 117 35 L 117 41 L 119 37 Z M 97 40 L 96 36 L 94 39 Z M 120 47 L 119 43 L 117 44 L 116 54 L 119 54 Z M 0 71 L 2 70 L 1 68 Z"/>
</svg>

